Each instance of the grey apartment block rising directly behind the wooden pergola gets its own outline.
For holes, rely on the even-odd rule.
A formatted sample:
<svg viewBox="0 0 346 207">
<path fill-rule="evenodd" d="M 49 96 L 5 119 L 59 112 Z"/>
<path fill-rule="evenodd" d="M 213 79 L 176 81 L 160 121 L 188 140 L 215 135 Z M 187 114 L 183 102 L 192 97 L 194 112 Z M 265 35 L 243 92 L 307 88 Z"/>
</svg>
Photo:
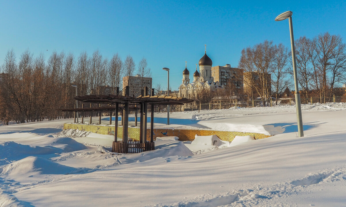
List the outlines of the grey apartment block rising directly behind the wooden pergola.
<svg viewBox="0 0 346 207">
<path fill-rule="evenodd" d="M 139 74 L 136 76 L 125 76 L 122 78 L 122 87 L 125 88 L 127 85 L 130 89 L 130 96 L 138 97 L 141 94 L 141 90 L 144 89 L 144 87 L 148 87 L 149 89 L 152 88 L 152 78 L 147 77 L 141 77 Z M 123 91 L 123 94 L 125 94 L 125 91 Z"/>
</svg>

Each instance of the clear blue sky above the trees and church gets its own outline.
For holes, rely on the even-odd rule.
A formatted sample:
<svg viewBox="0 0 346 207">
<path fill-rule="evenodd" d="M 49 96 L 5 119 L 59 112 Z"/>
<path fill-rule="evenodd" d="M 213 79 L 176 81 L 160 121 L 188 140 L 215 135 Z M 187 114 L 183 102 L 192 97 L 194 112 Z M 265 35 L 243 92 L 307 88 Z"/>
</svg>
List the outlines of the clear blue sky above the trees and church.
<svg viewBox="0 0 346 207">
<path fill-rule="evenodd" d="M 153 87 L 166 87 L 162 68 L 170 68 L 177 90 L 185 61 L 192 74 L 204 44 L 213 66 L 237 66 L 244 47 L 265 39 L 290 46 L 288 21 L 274 21 L 287 10 L 295 39 L 324 32 L 346 38 L 345 8 L 345 1 L 0 1 L 0 64 L 11 48 L 17 59 L 27 48 L 46 58 L 53 50 L 78 56 L 98 49 L 136 63 L 146 57 Z"/>
</svg>

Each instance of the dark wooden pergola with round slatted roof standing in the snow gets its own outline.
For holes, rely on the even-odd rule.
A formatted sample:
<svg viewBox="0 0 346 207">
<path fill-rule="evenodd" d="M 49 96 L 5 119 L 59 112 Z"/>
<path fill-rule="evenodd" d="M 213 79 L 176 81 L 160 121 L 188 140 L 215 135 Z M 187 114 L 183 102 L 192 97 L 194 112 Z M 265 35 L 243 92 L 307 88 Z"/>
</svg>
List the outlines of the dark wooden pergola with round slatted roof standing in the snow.
<svg viewBox="0 0 346 207">
<path fill-rule="evenodd" d="M 74 99 L 78 101 L 88 102 L 88 103 L 98 103 L 100 107 L 90 107 L 82 109 L 61 109 L 64 111 L 115 111 L 115 133 L 114 142 L 112 147 L 112 152 L 117 153 L 136 153 L 154 150 L 154 106 L 155 105 L 184 105 L 185 103 L 191 103 L 194 100 L 174 97 L 174 96 L 154 96 L 154 89 L 151 90 L 151 96 L 149 95 L 148 87 L 142 90 L 142 95 L 139 97 L 129 96 L 129 87 L 125 87 L 125 95 L 118 95 L 119 89 L 117 88 L 116 95 L 82 95 L 76 96 Z M 108 107 L 101 107 L 101 104 L 115 105 Z M 147 135 L 147 114 L 148 105 L 151 106 L 151 123 L 150 123 L 150 141 L 146 141 Z M 139 142 L 134 143 L 128 140 L 128 115 L 130 110 L 140 109 L 140 131 L 139 131 Z M 119 109 L 122 110 L 122 141 L 118 141 L 118 112 Z M 137 114 L 137 113 L 136 113 Z M 101 119 L 100 119 L 101 120 Z M 137 120 L 137 118 L 136 118 Z M 136 145 L 137 147 L 131 147 Z"/>
</svg>

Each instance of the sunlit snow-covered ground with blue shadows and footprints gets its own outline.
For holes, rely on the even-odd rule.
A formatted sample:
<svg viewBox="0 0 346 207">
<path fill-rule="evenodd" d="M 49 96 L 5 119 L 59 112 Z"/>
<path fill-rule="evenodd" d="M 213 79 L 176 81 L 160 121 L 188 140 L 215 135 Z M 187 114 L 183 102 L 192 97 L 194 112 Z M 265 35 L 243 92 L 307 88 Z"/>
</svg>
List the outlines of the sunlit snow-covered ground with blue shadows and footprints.
<svg viewBox="0 0 346 207">
<path fill-rule="evenodd" d="M 172 113 L 170 128 L 275 136 L 231 147 L 167 139 L 138 154 L 109 152 L 112 136 L 61 132 L 72 119 L 1 126 L 0 206 L 346 206 L 346 103 L 302 111 L 304 137 L 294 106 Z"/>
</svg>

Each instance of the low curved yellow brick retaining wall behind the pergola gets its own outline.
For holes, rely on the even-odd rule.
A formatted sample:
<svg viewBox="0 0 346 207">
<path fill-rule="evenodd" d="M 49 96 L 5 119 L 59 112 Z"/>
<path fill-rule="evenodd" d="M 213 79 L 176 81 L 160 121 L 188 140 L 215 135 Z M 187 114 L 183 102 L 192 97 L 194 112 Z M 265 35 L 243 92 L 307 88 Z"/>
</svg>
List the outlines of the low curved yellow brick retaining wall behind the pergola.
<svg viewBox="0 0 346 207">
<path fill-rule="evenodd" d="M 83 124 L 64 124 L 64 129 L 79 129 L 98 134 L 114 135 L 114 127 Z M 231 142 L 235 136 L 251 135 L 256 139 L 270 137 L 265 134 L 249 132 L 226 132 L 214 130 L 193 130 L 193 129 L 155 129 L 154 138 L 164 136 L 162 133 L 167 131 L 167 136 L 177 136 L 180 141 L 193 141 L 195 135 L 208 136 L 216 134 L 221 140 Z M 128 128 L 128 136 L 132 139 L 139 139 L 139 128 Z M 118 137 L 122 137 L 122 127 L 118 127 Z M 150 140 L 150 129 L 147 129 L 147 140 Z"/>
</svg>

